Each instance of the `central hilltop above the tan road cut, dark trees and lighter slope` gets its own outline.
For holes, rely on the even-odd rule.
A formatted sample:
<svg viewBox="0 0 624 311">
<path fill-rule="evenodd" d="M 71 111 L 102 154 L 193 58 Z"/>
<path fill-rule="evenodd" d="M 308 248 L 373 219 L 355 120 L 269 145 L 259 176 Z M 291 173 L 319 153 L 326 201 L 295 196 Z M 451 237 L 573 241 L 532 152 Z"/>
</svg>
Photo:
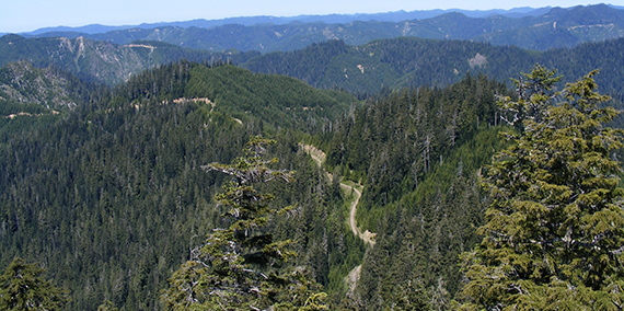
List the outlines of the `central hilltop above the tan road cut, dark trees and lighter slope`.
<svg viewBox="0 0 624 311">
<path fill-rule="evenodd" d="M 206 108 L 238 122 L 257 119 L 261 127 L 266 124 L 268 128 L 311 130 L 355 101 L 346 92 L 314 90 L 284 76 L 254 74 L 231 65 L 212 66 L 188 61 L 162 66 L 115 88 L 113 104 L 207 100 Z"/>
</svg>

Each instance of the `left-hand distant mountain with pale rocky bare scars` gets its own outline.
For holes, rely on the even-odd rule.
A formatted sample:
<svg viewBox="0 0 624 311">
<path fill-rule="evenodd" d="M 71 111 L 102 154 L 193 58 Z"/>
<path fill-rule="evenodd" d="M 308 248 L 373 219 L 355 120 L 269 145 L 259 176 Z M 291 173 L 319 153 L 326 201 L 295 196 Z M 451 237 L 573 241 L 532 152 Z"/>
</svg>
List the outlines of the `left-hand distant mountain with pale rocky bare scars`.
<svg viewBox="0 0 624 311">
<path fill-rule="evenodd" d="M 180 59 L 195 61 L 244 61 L 257 53 L 221 54 L 192 50 L 159 42 L 116 45 L 84 37 L 30 38 L 0 37 L 0 66 L 27 60 L 36 67 L 50 65 L 86 81 L 116 84 L 148 68 Z"/>
</svg>

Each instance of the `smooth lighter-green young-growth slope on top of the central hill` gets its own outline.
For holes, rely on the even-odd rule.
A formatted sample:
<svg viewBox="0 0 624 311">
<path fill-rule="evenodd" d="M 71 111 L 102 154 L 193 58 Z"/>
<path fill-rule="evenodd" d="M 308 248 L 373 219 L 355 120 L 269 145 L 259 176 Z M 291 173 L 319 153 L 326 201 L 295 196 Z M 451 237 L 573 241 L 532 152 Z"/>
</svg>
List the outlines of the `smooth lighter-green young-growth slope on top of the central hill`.
<svg viewBox="0 0 624 311">
<path fill-rule="evenodd" d="M 254 74 L 234 66 L 194 66 L 184 95 L 207 97 L 216 104 L 216 111 L 243 122 L 263 119 L 267 129 L 313 130 L 355 101 L 346 92 L 322 92 L 292 78 Z"/>
</svg>

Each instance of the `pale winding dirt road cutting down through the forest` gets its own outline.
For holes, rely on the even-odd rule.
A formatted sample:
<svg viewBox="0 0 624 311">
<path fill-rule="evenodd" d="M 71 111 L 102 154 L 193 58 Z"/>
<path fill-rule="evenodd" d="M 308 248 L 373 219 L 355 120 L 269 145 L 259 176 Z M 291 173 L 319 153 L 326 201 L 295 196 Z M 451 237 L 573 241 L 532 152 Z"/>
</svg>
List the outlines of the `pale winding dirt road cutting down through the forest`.
<svg viewBox="0 0 624 311">
<path fill-rule="evenodd" d="M 303 151 L 305 151 L 305 153 L 310 154 L 310 157 L 312 158 L 312 160 L 314 160 L 314 162 L 316 162 L 319 168 L 322 168 L 322 164 L 325 161 L 326 157 L 323 150 L 312 145 L 301 145 L 301 148 L 303 148 Z M 325 172 L 325 174 L 330 180 L 333 178 L 330 172 Z M 366 244 L 373 246 L 375 233 L 372 233 L 368 230 L 361 232 L 356 221 L 357 206 L 358 203 L 360 201 L 360 197 L 362 196 L 361 192 L 363 189 L 363 186 L 361 184 L 354 183 L 351 181 L 340 181 L 340 188 L 345 192 L 346 195 L 350 195 L 353 199 L 349 208 L 349 228 L 351 229 L 351 232 L 354 232 L 356 237 L 360 238 Z M 347 275 L 346 281 L 349 288 L 348 292 L 354 292 L 354 290 L 356 289 L 356 285 L 360 276 L 360 270 L 361 270 L 361 265 L 356 266 Z"/>
</svg>

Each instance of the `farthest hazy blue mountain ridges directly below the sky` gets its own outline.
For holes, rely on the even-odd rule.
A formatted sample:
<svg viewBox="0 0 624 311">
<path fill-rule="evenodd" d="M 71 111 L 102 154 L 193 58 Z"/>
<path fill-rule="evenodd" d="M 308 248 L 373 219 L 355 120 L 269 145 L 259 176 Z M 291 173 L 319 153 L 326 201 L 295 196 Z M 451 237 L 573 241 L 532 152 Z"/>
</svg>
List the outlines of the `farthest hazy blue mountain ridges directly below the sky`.
<svg viewBox="0 0 624 311">
<path fill-rule="evenodd" d="M 586 42 L 600 42 L 624 36 L 624 10 L 605 4 L 554 8 L 541 15 L 509 18 L 488 15 L 469 18 L 449 12 L 429 19 L 397 22 L 357 20 L 348 23 L 292 22 L 255 25 L 226 24 L 210 28 L 198 26 L 157 26 L 116 30 L 103 34 L 51 33 L 53 36 L 84 36 L 119 45 L 134 41 L 159 41 L 195 49 L 223 51 L 301 49 L 312 43 L 342 39 L 348 45 L 362 45 L 373 39 L 416 36 L 437 39 L 489 42 L 496 46 L 546 50 L 574 47 Z"/>
</svg>

